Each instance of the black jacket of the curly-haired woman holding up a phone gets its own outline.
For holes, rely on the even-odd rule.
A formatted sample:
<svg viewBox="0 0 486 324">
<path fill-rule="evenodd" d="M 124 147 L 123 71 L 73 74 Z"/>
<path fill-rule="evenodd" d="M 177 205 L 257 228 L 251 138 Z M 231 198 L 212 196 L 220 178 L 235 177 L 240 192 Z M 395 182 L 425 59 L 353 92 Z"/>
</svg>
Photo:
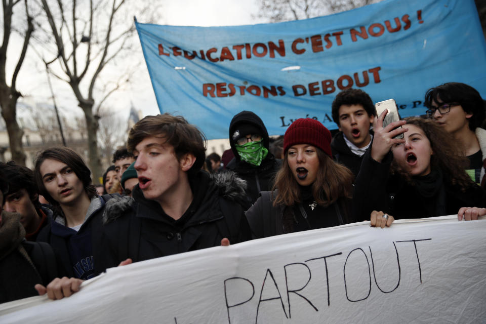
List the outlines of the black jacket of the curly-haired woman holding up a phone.
<svg viewBox="0 0 486 324">
<path fill-rule="evenodd" d="M 363 155 L 363 163 L 354 184 L 353 213 L 355 218 L 370 219 L 373 210 L 392 215 L 395 219 L 454 215 L 461 207 L 486 207 L 484 190 L 471 181 L 462 191 L 443 174 L 445 213 L 438 215 L 437 196 L 425 198 L 417 188 L 399 175 L 390 174 L 393 154 L 389 152 L 382 163 L 371 157 L 371 149 Z"/>
</svg>

